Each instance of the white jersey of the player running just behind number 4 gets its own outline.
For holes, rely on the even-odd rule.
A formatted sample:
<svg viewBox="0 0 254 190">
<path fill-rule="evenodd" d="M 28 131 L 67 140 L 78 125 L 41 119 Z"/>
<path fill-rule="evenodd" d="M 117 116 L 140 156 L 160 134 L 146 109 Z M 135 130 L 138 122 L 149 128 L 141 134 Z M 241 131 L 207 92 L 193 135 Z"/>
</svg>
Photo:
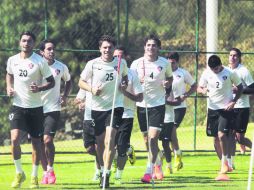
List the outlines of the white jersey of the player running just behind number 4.
<svg viewBox="0 0 254 190">
<path fill-rule="evenodd" d="M 183 68 L 177 68 L 173 71 L 173 83 L 172 91 L 174 97 L 180 97 L 186 92 L 186 84 L 192 86 L 195 83 L 194 79 L 188 71 Z M 174 106 L 174 108 L 186 108 L 186 101 L 184 100 L 179 106 Z"/>
</svg>

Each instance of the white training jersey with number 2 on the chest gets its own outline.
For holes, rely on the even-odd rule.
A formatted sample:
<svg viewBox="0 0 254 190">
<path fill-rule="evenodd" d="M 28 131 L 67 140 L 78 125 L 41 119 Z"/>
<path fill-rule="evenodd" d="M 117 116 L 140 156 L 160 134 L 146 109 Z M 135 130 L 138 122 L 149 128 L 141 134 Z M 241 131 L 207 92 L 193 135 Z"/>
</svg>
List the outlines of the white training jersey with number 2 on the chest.
<svg viewBox="0 0 254 190">
<path fill-rule="evenodd" d="M 240 78 L 229 68 L 223 67 L 219 73 L 206 69 L 200 78 L 199 86 L 208 88 L 207 107 L 212 110 L 224 109 L 232 101 L 232 86 L 241 84 Z"/>
</svg>

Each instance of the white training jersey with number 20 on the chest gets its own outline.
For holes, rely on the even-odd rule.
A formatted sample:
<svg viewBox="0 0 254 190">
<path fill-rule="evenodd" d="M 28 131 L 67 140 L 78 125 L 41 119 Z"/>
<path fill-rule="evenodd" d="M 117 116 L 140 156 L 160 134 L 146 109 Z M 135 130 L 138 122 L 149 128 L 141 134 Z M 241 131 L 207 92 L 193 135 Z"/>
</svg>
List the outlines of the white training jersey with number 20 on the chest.
<svg viewBox="0 0 254 190">
<path fill-rule="evenodd" d="M 48 63 L 40 55 L 33 53 L 23 59 L 18 53 L 8 59 L 6 71 L 14 77 L 13 105 L 22 108 L 42 106 L 41 93 L 30 91 L 31 83 L 41 85 L 43 78 L 52 75 Z"/>
</svg>

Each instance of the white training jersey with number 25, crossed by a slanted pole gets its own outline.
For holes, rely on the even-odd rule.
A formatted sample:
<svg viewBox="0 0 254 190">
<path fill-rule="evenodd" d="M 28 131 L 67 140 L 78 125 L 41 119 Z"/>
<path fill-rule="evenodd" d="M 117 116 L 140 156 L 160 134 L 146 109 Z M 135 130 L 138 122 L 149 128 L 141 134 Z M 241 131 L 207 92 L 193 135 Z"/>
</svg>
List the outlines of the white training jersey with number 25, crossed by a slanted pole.
<svg viewBox="0 0 254 190">
<path fill-rule="evenodd" d="M 80 77 L 83 81 L 90 81 L 90 85 L 102 89 L 99 96 L 92 96 L 92 110 L 108 111 L 112 109 L 113 96 L 115 91 L 115 82 L 117 78 L 118 58 L 115 57 L 112 62 L 104 62 L 101 57 L 89 61 Z M 117 86 L 120 85 L 123 76 L 128 74 L 127 63 L 121 60 L 120 72 Z M 115 108 L 123 107 L 123 94 L 116 89 Z"/>
</svg>

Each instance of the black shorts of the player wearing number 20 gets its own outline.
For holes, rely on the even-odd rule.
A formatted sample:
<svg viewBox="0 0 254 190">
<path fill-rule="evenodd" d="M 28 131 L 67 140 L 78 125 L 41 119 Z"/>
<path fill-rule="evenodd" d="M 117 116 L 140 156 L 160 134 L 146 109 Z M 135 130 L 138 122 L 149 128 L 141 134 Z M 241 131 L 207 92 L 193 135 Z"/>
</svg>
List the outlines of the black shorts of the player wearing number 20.
<svg viewBox="0 0 254 190">
<path fill-rule="evenodd" d="M 11 129 L 26 131 L 31 137 L 40 138 L 43 136 L 43 108 L 22 108 L 12 106 L 9 120 Z"/>
</svg>

